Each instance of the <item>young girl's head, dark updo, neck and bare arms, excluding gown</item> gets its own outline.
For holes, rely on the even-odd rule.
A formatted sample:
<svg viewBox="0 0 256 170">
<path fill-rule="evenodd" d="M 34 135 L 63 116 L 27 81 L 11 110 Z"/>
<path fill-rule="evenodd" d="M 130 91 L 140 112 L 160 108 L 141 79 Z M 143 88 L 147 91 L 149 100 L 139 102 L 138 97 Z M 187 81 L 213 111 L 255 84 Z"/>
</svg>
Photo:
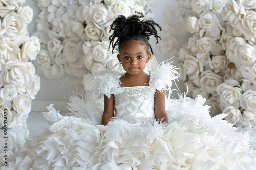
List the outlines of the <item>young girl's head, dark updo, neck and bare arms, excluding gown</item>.
<svg viewBox="0 0 256 170">
<path fill-rule="evenodd" d="M 138 14 L 141 13 L 138 12 Z M 124 16 L 119 16 L 113 21 L 110 27 L 114 30 L 113 35 L 110 36 L 112 37 L 112 40 L 110 39 L 110 45 L 112 42 L 112 48 L 114 50 L 115 45 L 118 44 L 119 54 L 117 58 L 125 70 L 125 74 L 119 78 L 122 87 L 140 87 L 148 86 L 149 84 L 150 76 L 143 71 L 151 57 L 151 53 L 148 52 L 149 47 L 152 54 L 154 54 L 148 43 L 148 35 L 154 35 L 158 42 L 159 36 L 154 25 L 157 25 L 160 31 L 161 27 L 154 21 L 140 21 L 140 18 L 143 18 L 143 14 L 141 16 L 133 15 L 127 19 Z M 122 23 L 126 24 L 123 29 L 120 29 Z M 118 40 L 113 45 L 116 37 L 118 37 Z M 162 120 L 164 123 L 168 123 L 164 107 L 165 90 L 161 90 L 161 93 L 159 93 L 159 90 L 156 90 L 154 96 L 156 120 L 159 122 Z M 112 117 L 114 117 L 114 95 L 111 94 L 110 98 L 107 98 L 105 95 L 102 124 L 106 125 Z"/>
</svg>

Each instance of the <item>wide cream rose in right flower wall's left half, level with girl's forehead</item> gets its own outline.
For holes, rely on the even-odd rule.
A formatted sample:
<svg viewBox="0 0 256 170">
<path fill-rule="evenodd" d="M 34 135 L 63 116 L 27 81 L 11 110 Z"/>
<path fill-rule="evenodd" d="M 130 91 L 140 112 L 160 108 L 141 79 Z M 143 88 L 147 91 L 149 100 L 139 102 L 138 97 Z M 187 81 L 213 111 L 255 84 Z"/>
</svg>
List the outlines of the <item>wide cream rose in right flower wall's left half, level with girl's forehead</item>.
<svg viewBox="0 0 256 170">
<path fill-rule="evenodd" d="M 208 53 L 214 46 L 216 42 L 210 37 L 202 37 L 196 40 L 196 44 L 191 48 L 191 51 L 196 53 Z"/>
</svg>

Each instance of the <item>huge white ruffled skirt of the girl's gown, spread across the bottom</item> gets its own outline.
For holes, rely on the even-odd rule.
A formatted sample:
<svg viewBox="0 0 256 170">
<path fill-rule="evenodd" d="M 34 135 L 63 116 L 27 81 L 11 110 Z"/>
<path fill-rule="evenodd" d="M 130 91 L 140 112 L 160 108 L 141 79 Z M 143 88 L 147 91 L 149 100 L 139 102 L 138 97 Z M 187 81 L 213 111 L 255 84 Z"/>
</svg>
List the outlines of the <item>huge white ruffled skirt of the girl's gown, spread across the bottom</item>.
<svg viewBox="0 0 256 170">
<path fill-rule="evenodd" d="M 140 127 L 123 119 L 93 125 L 64 116 L 42 134 L 30 136 L 2 169 L 256 169 L 248 132 L 236 132 L 222 120 L 225 114 L 206 116 L 199 99 L 169 101 L 172 109 L 166 112 L 173 118 L 166 127 L 156 121 Z"/>
</svg>

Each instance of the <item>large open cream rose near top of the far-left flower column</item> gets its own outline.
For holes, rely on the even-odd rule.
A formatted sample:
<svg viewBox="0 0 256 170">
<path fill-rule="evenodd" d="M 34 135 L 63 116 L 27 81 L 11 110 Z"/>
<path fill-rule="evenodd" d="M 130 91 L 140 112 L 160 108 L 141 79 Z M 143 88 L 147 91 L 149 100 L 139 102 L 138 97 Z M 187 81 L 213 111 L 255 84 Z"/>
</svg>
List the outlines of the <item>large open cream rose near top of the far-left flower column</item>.
<svg viewBox="0 0 256 170">
<path fill-rule="evenodd" d="M 10 40 L 15 40 L 17 35 L 25 32 L 27 23 L 24 17 L 15 12 L 10 12 L 4 17 L 2 27 L 6 30 L 4 36 L 10 38 Z"/>
</svg>

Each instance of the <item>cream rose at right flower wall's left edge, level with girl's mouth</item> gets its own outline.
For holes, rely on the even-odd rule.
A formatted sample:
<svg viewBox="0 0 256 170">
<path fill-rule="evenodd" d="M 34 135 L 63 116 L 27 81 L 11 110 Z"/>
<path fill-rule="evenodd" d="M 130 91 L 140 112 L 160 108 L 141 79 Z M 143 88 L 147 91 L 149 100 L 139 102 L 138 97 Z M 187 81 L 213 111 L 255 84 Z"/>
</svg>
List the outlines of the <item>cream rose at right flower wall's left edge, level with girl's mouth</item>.
<svg viewBox="0 0 256 170">
<path fill-rule="evenodd" d="M 199 67 L 198 59 L 188 54 L 186 55 L 186 60 L 183 62 L 183 68 L 189 80 L 197 79 L 199 72 L 202 71 Z"/>
</svg>

